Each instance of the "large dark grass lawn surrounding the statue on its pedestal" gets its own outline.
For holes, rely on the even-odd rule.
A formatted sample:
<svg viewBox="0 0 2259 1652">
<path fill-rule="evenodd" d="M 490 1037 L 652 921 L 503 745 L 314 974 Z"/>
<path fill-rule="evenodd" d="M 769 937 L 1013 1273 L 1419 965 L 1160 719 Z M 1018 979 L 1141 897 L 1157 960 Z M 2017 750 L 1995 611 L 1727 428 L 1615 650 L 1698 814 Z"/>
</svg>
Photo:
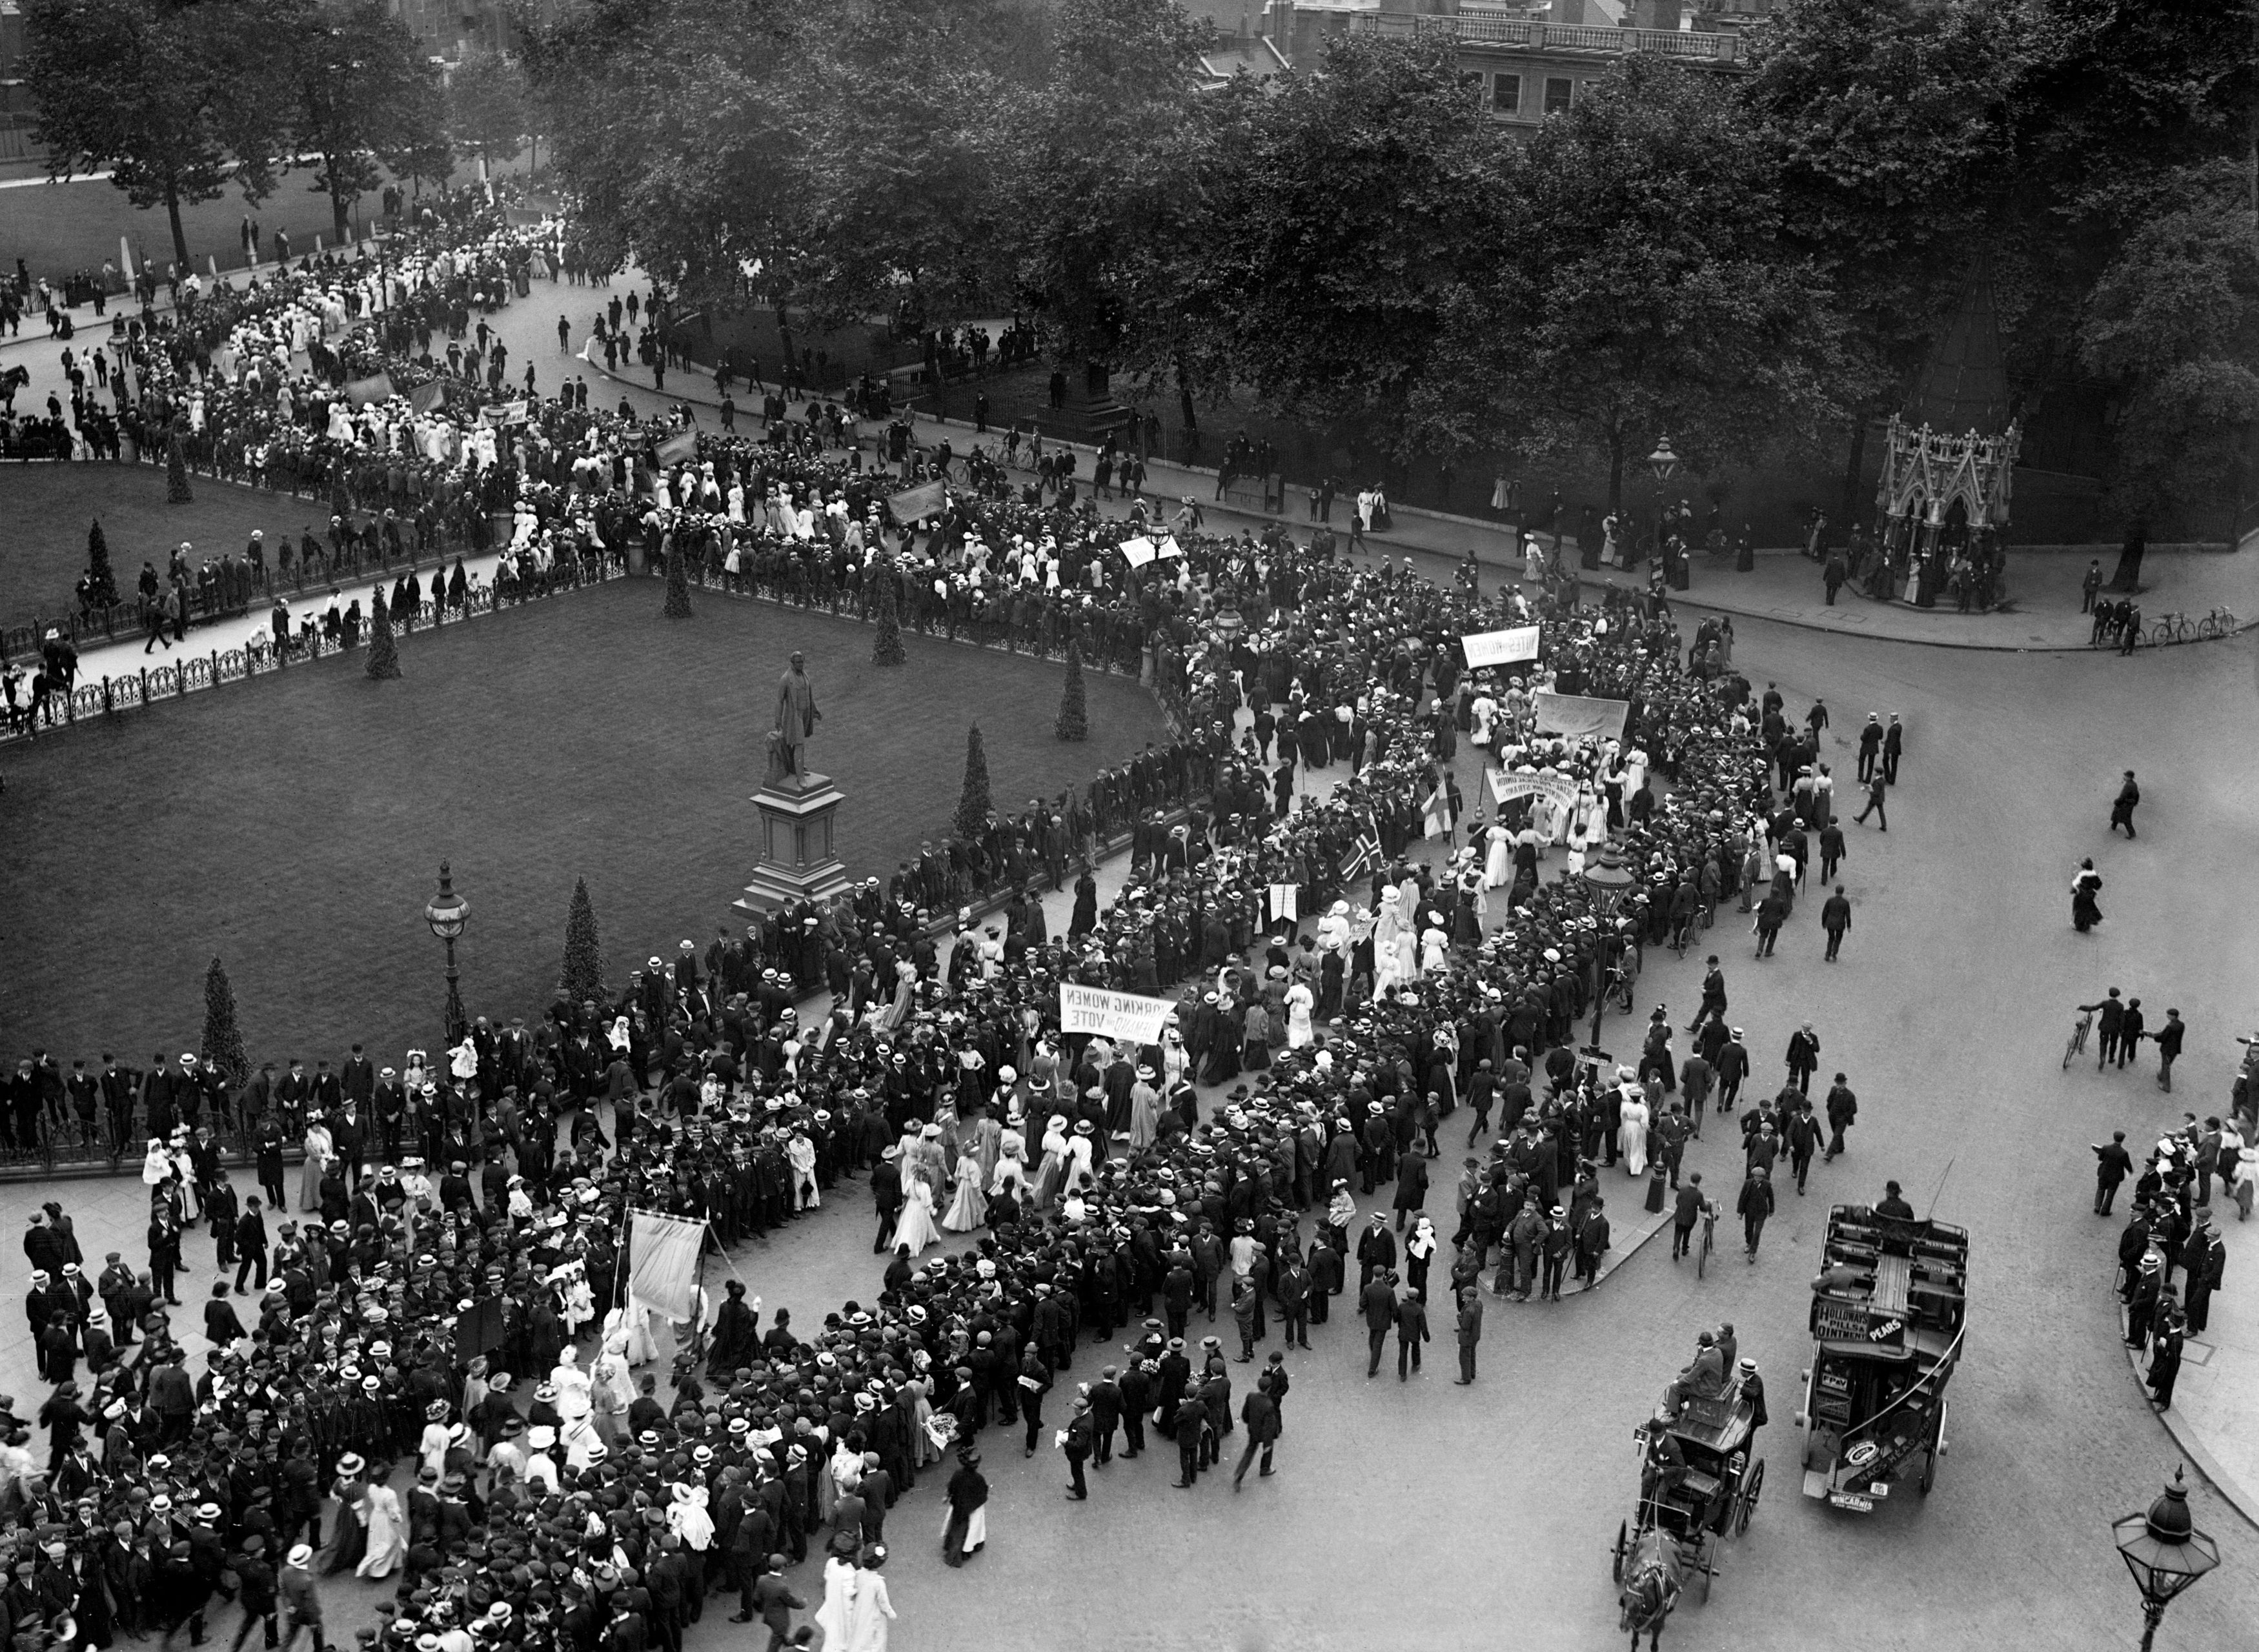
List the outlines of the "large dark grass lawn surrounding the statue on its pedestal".
<svg viewBox="0 0 2259 1652">
<path fill-rule="evenodd" d="M 1091 739 L 1064 746 L 1053 662 L 906 635 L 908 664 L 881 671 L 867 626 L 712 594 L 669 621 L 660 597 L 619 581 L 416 633 L 400 682 L 352 655 L 11 748 L 0 1053 L 192 1049 L 217 954 L 253 1060 L 361 1040 L 398 1067 L 441 1031 L 422 904 L 443 859 L 472 902 L 456 945 L 472 1015 L 547 1003 L 574 877 L 614 983 L 678 940 L 705 949 L 752 870 L 750 795 L 793 649 L 858 877 L 949 829 L 967 723 L 998 805 L 1163 737 L 1127 678 L 1089 676 Z"/>
</svg>

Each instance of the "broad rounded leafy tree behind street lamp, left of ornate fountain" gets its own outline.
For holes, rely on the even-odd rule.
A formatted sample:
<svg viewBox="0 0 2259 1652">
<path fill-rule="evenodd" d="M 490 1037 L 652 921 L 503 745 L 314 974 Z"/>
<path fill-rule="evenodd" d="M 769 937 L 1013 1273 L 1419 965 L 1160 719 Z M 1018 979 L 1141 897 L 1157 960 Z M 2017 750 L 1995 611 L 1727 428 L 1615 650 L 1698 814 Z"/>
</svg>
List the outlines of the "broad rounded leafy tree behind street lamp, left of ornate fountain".
<svg viewBox="0 0 2259 1652">
<path fill-rule="evenodd" d="M 1446 445 L 1597 452 L 1608 504 L 1669 434 L 1697 466 L 1832 409 L 1825 287 L 1780 244 L 1778 169 L 1733 90 L 1631 56 L 1516 151 L 1500 258 L 1446 301 L 1416 398 Z"/>
</svg>

